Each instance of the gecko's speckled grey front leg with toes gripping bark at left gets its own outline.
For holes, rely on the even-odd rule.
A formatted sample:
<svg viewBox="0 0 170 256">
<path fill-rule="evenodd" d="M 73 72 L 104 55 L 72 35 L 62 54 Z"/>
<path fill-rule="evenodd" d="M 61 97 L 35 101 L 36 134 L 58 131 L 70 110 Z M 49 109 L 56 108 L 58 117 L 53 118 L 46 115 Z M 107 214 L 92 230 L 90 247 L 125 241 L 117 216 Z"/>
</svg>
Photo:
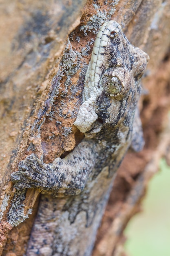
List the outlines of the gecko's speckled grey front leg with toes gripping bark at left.
<svg viewBox="0 0 170 256">
<path fill-rule="evenodd" d="M 16 189 L 38 188 L 60 196 L 78 194 L 93 169 L 96 149 L 93 141 L 84 140 L 74 153 L 64 159 L 57 157 L 51 165 L 31 154 L 19 163 L 19 171 L 11 174 L 11 180 Z"/>
</svg>

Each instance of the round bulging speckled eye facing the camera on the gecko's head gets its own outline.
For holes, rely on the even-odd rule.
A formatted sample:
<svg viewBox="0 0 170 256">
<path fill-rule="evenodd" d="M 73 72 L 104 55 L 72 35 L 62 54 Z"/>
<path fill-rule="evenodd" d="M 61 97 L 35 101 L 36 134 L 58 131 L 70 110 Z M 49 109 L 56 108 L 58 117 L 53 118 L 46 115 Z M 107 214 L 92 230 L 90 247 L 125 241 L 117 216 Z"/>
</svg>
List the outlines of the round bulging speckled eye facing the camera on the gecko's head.
<svg viewBox="0 0 170 256">
<path fill-rule="evenodd" d="M 108 94 L 118 94 L 123 89 L 122 83 L 117 76 L 103 76 L 102 87 Z"/>
</svg>

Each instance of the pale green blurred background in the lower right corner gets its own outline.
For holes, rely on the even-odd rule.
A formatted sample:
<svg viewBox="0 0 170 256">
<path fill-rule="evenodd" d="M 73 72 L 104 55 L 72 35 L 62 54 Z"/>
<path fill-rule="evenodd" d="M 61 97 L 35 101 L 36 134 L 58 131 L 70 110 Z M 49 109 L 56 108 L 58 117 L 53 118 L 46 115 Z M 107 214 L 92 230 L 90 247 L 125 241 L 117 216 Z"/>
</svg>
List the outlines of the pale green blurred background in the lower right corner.
<svg viewBox="0 0 170 256">
<path fill-rule="evenodd" d="M 161 159 L 150 180 L 143 211 L 125 229 L 128 256 L 170 256 L 170 167 Z"/>
</svg>

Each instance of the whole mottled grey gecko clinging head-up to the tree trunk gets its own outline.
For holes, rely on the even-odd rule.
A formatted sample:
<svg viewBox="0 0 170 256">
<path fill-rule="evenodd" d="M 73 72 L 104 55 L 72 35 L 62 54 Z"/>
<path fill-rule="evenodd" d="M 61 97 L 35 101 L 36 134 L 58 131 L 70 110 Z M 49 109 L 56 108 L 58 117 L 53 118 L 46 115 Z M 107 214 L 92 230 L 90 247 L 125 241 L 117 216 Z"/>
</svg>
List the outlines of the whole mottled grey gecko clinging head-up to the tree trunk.
<svg viewBox="0 0 170 256">
<path fill-rule="evenodd" d="M 17 189 L 39 188 L 60 198 L 53 203 L 55 210 L 49 209 L 52 215 L 57 212 L 48 217 L 53 230 L 42 217 L 51 199 L 42 199 L 44 210 L 38 213 L 26 255 L 91 255 L 115 173 L 130 145 L 136 151 L 143 147 L 137 102 L 147 61 L 148 55 L 129 43 L 117 22 L 104 23 L 74 123 L 85 138 L 64 159 L 44 164 L 32 154 L 11 175 Z M 49 233 L 37 238 L 41 229 Z"/>
</svg>

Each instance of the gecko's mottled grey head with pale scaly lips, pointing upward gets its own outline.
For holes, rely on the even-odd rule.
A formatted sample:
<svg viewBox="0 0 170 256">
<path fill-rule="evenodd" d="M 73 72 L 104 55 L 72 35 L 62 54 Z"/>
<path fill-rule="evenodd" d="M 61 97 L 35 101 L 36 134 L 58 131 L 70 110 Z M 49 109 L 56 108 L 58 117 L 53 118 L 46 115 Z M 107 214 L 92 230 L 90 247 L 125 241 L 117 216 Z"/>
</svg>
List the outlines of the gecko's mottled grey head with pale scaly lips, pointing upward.
<svg viewBox="0 0 170 256">
<path fill-rule="evenodd" d="M 97 34 L 86 72 L 77 128 L 87 132 L 98 119 L 112 128 L 124 120 L 132 124 L 148 59 L 146 53 L 130 44 L 116 21 L 105 22 Z"/>
</svg>

